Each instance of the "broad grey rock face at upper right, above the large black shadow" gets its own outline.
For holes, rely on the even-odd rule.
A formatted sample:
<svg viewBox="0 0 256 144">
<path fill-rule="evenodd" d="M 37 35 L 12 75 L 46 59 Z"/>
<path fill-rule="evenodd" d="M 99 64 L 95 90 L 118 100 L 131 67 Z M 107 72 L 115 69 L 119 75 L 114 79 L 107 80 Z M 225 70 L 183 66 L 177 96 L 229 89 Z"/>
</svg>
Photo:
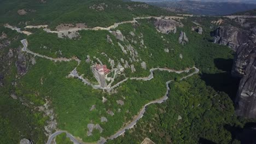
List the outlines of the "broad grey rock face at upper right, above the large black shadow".
<svg viewBox="0 0 256 144">
<path fill-rule="evenodd" d="M 228 45 L 234 51 L 241 44 L 245 44 L 248 41 L 256 41 L 255 34 L 252 32 L 233 26 L 219 27 L 211 32 L 211 36 L 214 37 L 214 43 Z"/>
</svg>

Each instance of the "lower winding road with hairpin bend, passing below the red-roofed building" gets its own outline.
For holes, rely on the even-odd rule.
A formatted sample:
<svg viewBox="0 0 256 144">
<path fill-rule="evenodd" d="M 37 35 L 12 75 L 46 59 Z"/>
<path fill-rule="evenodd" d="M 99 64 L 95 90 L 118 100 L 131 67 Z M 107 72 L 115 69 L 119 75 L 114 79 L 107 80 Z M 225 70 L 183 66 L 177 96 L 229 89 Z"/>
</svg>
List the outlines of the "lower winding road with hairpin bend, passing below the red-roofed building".
<svg viewBox="0 0 256 144">
<path fill-rule="evenodd" d="M 75 60 L 75 61 L 78 62 L 78 64 L 80 63 L 80 60 L 77 59 L 77 58 L 73 58 L 73 59 L 72 59 L 72 58 L 51 58 L 51 57 L 47 57 L 47 56 L 40 55 L 40 54 L 38 54 L 38 53 L 34 53 L 34 52 L 32 52 L 32 51 L 30 51 L 30 50 L 27 49 L 27 45 L 28 45 L 28 44 L 27 44 L 27 40 L 26 40 L 26 39 L 21 40 L 21 43 L 24 45 L 24 47 L 22 48 L 22 51 L 25 51 L 25 52 L 27 52 L 27 53 L 30 53 L 30 54 L 32 54 L 32 55 L 34 55 L 34 56 L 38 56 L 38 57 L 50 59 L 51 61 L 71 61 L 71 60 Z M 92 88 L 112 90 L 113 88 L 118 87 L 119 85 L 121 85 L 121 83 L 123 83 L 123 82 L 125 82 L 125 81 L 127 81 L 127 80 L 129 80 L 129 79 L 130 79 L 130 80 L 144 80 L 144 81 L 152 80 L 152 79 L 154 78 L 154 73 L 153 73 L 153 72 L 154 72 L 155 70 L 168 71 L 169 73 L 181 74 L 181 73 L 183 73 L 183 72 L 188 73 L 189 70 L 191 70 L 191 69 L 195 69 L 195 71 L 194 71 L 193 73 L 187 75 L 187 76 L 182 77 L 180 80 L 187 79 L 187 77 L 199 73 L 199 69 L 197 69 L 196 67 L 190 68 L 190 69 L 188 69 L 188 70 L 172 70 L 172 69 L 166 69 L 166 68 L 153 68 L 153 69 L 150 69 L 150 70 L 149 70 L 149 71 L 150 71 L 150 75 L 149 75 L 148 77 L 130 77 L 130 78 L 126 78 L 125 80 L 118 82 L 116 85 L 114 85 L 114 86 L 112 86 L 112 87 L 107 87 L 107 88 L 102 88 L 102 87 L 100 87 L 100 86 L 98 86 L 98 85 L 92 85 L 90 82 L 88 82 L 88 81 L 86 81 L 85 79 L 83 79 L 82 76 L 79 76 L 79 75 L 77 74 L 76 68 L 75 68 L 74 70 L 72 70 L 71 74 L 69 74 L 69 75 L 74 76 L 74 77 L 78 77 L 78 79 L 82 80 L 85 84 L 92 86 Z M 164 102 L 165 100 L 167 100 L 167 99 L 168 99 L 168 95 L 170 94 L 170 87 L 169 87 L 168 85 L 169 85 L 169 83 L 172 82 L 172 81 L 173 81 L 173 80 L 170 80 L 170 81 L 167 81 L 167 82 L 166 82 L 166 88 L 167 88 L 167 90 L 166 90 L 165 95 L 164 95 L 162 98 L 156 99 L 156 100 L 153 100 L 153 101 L 150 101 L 149 103 L 147 103 L 146 105 L 144 105 L 144 106 L 142 107 L 141 111 L 139 111 L 138 115 L 132 120 L 131 123 L 129 123 L 128 125 L 126 125 L 126 127 L 121 128 L 121 129 L 120 129 L 119 131 L 117 131 L 117 133 L 115 133 L 114 135 L 108 137 L 107 140 L 113 140 L 113 139 L 117 138 L 118 136 L 120 136 L 121 134 L 124 134 L 127 129 L 132 128 L 132 127 L 137 123 L 137 121 L 138 121 L 140 118 L 143 117 L 144 112 L 146 111 L 146 108 L 147 108 L 148 105 L 150 105 L 150 104 L 155 104 L 155 103 L 159 103 L 159 104 L 160 104 L 160 103 Z M 71 141 L 73 141 L 75 144 L 79 144 L 79 143 L 80 143 L 78 140 L 75 139 L 75 137 L 74 137 L 73 135 L 69 134 L 67 131 L 56 131 L 54 134 L 51 134 L 51 135 L 49 136 L 49 139 L 48 139 L 48 141 L 47 141 L 46 144 L 50 144 L 51 141 L 53 141 L 53 139 L 54 139 L 57 135 L 62 134 L 62 133 L 66 133 L 66 134 L 67 134 L 67 137 L 69 137 L 69 138 L 71 139 Z M 104 141 L 103 141 L 103 143 L 104 143 Z"/>
</svg>

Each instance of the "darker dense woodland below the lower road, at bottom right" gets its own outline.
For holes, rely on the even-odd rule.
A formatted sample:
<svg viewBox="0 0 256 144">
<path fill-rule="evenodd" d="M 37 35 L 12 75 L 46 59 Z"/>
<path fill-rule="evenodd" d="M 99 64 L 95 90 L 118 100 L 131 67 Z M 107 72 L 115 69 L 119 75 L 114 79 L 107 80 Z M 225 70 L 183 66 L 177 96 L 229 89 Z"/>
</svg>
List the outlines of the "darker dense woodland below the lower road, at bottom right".
<svg viewBox="0 0 256 144">
<path fill-rule="evenodd" d="M 173 82 L 170 87 L 166 103 L 150 105 L 135 129 L 109 143 L 136 143 L 145 137 L 155 143 L 197 143 L 200 138 L 215 143 L 232 141 L 224 125 L 240 122 L 227 94 L 206 86 L 199 76 Z"/>
</svg>

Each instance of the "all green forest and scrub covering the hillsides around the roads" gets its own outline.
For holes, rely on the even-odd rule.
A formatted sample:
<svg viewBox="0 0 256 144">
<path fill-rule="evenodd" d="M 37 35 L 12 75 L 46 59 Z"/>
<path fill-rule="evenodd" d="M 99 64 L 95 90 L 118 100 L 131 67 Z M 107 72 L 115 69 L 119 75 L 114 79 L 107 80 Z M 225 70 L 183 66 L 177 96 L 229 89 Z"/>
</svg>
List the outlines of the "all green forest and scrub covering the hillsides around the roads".
<svg viewBox="0 0 256 144">
<path fill-rule="evenodd" d="M 20 9 L 27 13 L 19 15 L 17 11 Z M 21 28 L 46 24 L 55 29 L 60 23 L 106 27 L 136 16 L 159 15 L 173 14 L 144 3 L 119 0 L 0 2 L 0 24 L 10 23 Z M 107 138 L 126 125 L 145 104 L 163 97 L 166 81 L 173 80 L 167 101 L 149 105 L 144 117 L 134 128 L 127 130 L 125 136 L 107 142 L 140 143 L 149 137 L 155 143 L 239 143 L 226 126 L 243 127 L 246 122 L 254 120 L 245 121 L 235 115 L 232 100 L 236 96 L 234 89 L 237 89 L 239 79 L 230 74 L 234 52 L 228 46 L 212 43 L 210 32 L 218 27 L 212 23 L 215 20 L 218 18 L 186 17 L 179 20 L 184 27 L 177 27 L 177 33 L 170 34 L 158 32 L 154 26 L 155 19 L 138 20 L 138 23 L 126 23 L 111 29 L 120 30 L 124 41 L 109 31 L 83 30 L 78 32 L 79 38 L 69 39 L 46 33 L 42 28 L 29 29 L 33 34 L 27 36 L 0 26 L 0 36 L 3 33 L 7 35 L 6 38 L 1 37 L 0 43 L 8 43 L 8 46 L 0 48 L 0 140 L 19 143 L 21 139 L 29 139 L 34 143 L 45 143 L 48 137 L 44 127 L 50 117 L 39 109 L 49 102 L 57 130 L 66 130 L 84 142 L 96 142 L 101 136 Z M 196 27 L 193 22 L 200 23 L 202 34 L 191 31 L 191 27 Z M 178 43 L 181 31 L 189 39 L 187 44 Z M 55 62 L 22 52 L 20 40 L 25 38 L 28 49 L 33 52 L 53 58 L 77 57 L 81 62 L 79 65 L 77 61 Z M 131 61 L 134 54 L 125 54 L 120 45 L 125 49 L 133 47 L 137 52 L 134 52 L 136 61 Z M 166 52 L 166 49 L 170 51 Z M 87 56 L 92 62 L 86 62 Z M 109 59 L 114 60 L 115 67 L 118 63 L 124 65 L 121 59 L 134 64 L 136 71 L 125 68 L 113 85 L 127 77 L 147 77 L 152 68 L 184 70 L 195 66 L 200 73 L 179 81 L 194 69 L 181 74 L 156 70 L 154 79 L 150 81 L 129 79 L 110 92 L 93 89 L 77 78 L 68 77 L 77 67 L 79 75 L 96 85 L 91 67 L 98 63 L 97 58 L 108 68 L 111 68 Z M 25 61 L 19 62 L 22 59 Z M 142 68 L 142 62 L 147 68 Z M 19 64 L 25 65 L 22 67 L 26 69 L 25 74 L 19 73 Z M 109 76 L 113 75 L 113 71 L 109 73 Z M 103 103 L 103 99 L 107 101 Z M 118 104 L 119 100 L 124 105 Z M 101 117 L 108 121 L 101 122 Z M 92 136 L 88 136 L 89 123 L 99 124 L 102 133 L 94 129 Z M 66 134 L 58 135 L 56 142 L 71 143 Z"/>
</svg>

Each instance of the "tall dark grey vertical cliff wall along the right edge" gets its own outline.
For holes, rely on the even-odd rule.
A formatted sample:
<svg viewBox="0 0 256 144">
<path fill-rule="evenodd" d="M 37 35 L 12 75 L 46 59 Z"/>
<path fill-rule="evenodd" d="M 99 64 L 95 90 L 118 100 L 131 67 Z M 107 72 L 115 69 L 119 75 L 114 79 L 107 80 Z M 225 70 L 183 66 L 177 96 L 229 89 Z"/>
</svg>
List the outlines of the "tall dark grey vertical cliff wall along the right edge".
<svg viewBox="0 0 256 144">
<path fill-rule="evenodd" d="M 250 42 L 238 47 L 233 70 L 238 76 L 243 75 L 237 92 L 236 113 L 256 118 L 256 44 Z"/>
</svg>

